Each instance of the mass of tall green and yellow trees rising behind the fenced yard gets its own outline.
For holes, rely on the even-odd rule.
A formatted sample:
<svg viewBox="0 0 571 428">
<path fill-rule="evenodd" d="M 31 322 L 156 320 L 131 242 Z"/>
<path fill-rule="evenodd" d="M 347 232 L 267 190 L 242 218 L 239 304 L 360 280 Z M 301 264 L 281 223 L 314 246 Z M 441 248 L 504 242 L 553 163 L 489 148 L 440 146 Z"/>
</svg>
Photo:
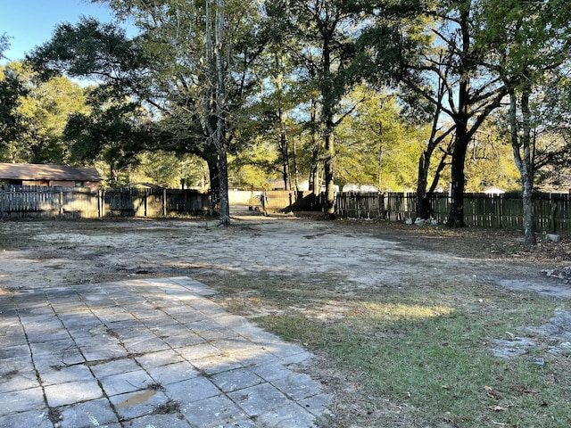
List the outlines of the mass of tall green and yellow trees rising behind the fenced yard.
<svg viewBox="0 0 571 428">
<path fill-rule="evenodd" d="M 101 3 L 119 21 L 63 23 L 29 55 L 50 82 L 42 95 L 4 72 L 4 159 L 24 134 L 28 152 L 12 145 L 12 160 L 104 161 L 111 175 L 153 152 L 199 156 L 224 225 L 229 183 L 298 189 L 307 177 L 315 193 L 324 185 L 327 216 L 334 185 L 416 187 L 429 218 L 431 194 L 450 184 L 448 226 L 463 226 L 465 190 L 515 183 L 506 137 L 528 188 L 568 163 L 563 0 Z M 95 87 L 73 89 L 62 74 Z M 78 104 L 40 102 L 48 87 Z"/>
</svg>

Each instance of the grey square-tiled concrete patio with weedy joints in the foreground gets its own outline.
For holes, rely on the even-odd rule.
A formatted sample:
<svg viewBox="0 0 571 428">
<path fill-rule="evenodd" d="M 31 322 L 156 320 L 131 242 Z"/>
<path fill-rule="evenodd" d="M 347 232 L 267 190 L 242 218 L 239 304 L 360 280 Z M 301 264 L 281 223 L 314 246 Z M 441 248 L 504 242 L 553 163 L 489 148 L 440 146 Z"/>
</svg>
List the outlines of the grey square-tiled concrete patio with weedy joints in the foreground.
<svg viewBox="0 0 571 428">
<path fill-rule="evenodd" d="M 299 345 L 187 277 L 0 289 L 0 427 L 316 425 Z"/>
</svg>

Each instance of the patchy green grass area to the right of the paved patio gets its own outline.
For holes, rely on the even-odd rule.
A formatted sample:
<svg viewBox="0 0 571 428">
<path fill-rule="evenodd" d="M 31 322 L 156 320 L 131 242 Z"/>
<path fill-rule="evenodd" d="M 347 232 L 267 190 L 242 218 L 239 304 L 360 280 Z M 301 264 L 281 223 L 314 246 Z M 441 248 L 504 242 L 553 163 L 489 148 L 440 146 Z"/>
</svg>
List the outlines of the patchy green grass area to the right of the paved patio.
<svg viewBox="0 0 571 428">
<path fill-rule="evenodd" d="M 404 286 L 352 295 L 343 300 L 343 316 L 329 319 L 335 287 L 311 285 L 309 278 L 248 277 L 240 281 L 242 290 L 244 284 L 250 292 L 235 310 L 273 309 L 256 321 L 325 353 L 339 370 L 361 374 L 361 393 L 373 398 L 371 407 L 382 406 L 375 397 L 388 397 L 416 409 L 418 426 L 571 425 L 571 362 L 550 354 L 549 338 L 534 337 L 538 348 L 517 358 L 494 357 L 490 350 L 492 339 L 545 324 L 564 309 L 560 300 L 485 284 Z"/>
</svg>

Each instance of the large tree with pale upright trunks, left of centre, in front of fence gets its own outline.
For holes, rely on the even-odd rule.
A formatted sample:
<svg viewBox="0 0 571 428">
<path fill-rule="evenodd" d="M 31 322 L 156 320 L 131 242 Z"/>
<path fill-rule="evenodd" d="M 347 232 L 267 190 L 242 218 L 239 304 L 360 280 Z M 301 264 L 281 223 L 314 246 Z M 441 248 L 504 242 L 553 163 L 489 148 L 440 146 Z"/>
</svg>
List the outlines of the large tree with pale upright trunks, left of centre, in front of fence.
<svg viewBox="0 0 571 428">
<path fill-rule="evenodd" d="M 140 34 L 129 40 L 112 24 L 84 19 L 77 27 L 60 26 L 33 60 L 100 78 L 119 94 L 153 107 L 158 125 L 153 128 L 170 138 L 162 148 L 184 147 L 208 162 L 212 199 L 220 202 L 220 224 L 228 225 L 230 124 L 243 105 L 244 88 L 255 79 L 249 72 L 260 53 L 248 41 L 255 2 L 102 3 L 131 19 Z"/>
</svg>

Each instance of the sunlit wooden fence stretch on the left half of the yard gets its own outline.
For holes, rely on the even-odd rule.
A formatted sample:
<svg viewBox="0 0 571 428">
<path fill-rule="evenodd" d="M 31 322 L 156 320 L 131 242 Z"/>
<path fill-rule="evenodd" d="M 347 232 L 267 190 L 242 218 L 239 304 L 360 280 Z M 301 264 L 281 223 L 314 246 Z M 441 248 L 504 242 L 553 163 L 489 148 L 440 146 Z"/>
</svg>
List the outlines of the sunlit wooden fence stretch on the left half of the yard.
<svg viewBox="0 0 571 428">
<path fill-rule="evenodd" d="M 228 197 L 231 206 L 276 211 L 320 210 L 323 199 L 293 191 L 230 191 Z M 202 214 L 210 210 L 210 204 L 210 193 L 198 190 L 0 186 L 0 218 L 153 218 Z"/>
</svg>

